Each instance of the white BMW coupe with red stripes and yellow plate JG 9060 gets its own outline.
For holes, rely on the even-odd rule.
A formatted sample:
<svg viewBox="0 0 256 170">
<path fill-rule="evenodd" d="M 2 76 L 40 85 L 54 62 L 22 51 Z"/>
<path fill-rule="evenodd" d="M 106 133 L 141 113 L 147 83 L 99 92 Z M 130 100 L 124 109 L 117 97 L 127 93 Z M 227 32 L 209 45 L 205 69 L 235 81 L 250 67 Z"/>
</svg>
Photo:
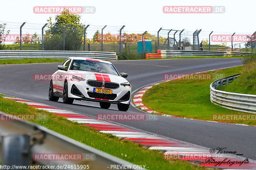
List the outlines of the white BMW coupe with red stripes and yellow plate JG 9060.
<svg viewBox="0 0 256 170">
<path fill-rule="evenodd" d="M 72 104 L 74 100 L 100 102 L 101 108 L 117 104 L 118 110 L 127 111 L 131 100 L 131 85 L 126 73 L 118 73 L 108 61 L 69 57 L 52 74 L 49 100 Z"/>
</svg>

